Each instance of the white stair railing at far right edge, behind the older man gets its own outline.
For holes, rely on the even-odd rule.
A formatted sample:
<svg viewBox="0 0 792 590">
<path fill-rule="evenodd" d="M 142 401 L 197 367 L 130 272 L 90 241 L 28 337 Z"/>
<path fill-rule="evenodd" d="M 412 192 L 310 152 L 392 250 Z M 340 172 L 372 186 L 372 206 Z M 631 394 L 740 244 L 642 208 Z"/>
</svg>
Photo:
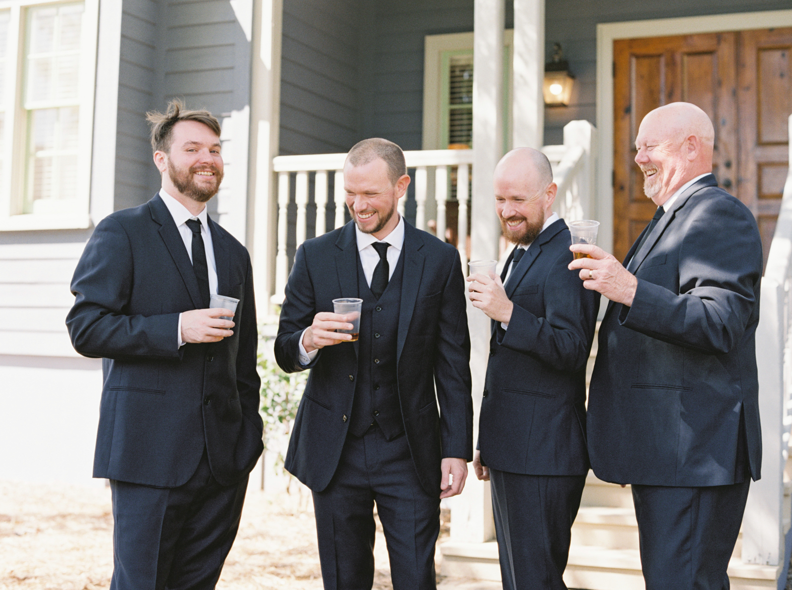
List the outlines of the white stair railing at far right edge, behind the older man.
<svg viewBox="0 0 792 590">
<path fill-rule="evenodd" d="M 789 120 L 792 139 L 792 116 Z M 792 142 L 790 142 L 792 162 Z M 792 166 L 786 176 L 781 212 L 762 279 L 756 329 L 759 407 L 762 421 L 762 478 L 752 483 L 743 519 L 742 559 L 779 565 L 790 529 L 790 498 L 785 474 L 792 427 Z M 785 482 L 786 481 L 786 482 Z"/>
</svg>

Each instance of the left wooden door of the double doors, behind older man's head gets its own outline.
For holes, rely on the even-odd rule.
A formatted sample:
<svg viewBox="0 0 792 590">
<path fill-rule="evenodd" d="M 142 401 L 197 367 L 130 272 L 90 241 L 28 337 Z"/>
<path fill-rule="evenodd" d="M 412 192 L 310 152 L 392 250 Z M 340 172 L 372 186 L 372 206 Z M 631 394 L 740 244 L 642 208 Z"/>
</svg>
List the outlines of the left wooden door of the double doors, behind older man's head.
<svg viewBox="0 0 792 590">
<path fill-rule="evenodd" d="M 669 102 L 698 105 L 715 123 L 714 173 L 733 185 L 737 158 L 735 33 L 614 42 L 614 253 L 620 260 L 655 211 L 634 162 L 647 112 Z"/>
</svg>

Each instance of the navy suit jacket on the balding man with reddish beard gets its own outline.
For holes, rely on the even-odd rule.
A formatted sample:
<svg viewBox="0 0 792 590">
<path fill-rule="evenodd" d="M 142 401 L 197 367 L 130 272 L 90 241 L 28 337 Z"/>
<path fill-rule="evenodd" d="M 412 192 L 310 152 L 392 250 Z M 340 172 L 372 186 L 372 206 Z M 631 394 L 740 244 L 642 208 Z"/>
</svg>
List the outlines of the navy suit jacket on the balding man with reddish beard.
<svg viewBox="0 0 792 590">
<path fill-rule="evenodd" d="M 530 475 L 588 472 L 586 361 L 600 295 L 583 287 L 563 219 L 528 247 L 506 281 L 508 329 L 493 322 L 478 446 L 485 465 Z"/>
</svg>

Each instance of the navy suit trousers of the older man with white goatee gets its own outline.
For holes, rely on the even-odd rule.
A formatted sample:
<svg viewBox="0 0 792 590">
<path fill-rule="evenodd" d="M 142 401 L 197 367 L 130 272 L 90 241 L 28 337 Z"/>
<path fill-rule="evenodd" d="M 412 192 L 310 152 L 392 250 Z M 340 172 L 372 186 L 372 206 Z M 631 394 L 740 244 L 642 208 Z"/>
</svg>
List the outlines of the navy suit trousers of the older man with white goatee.
<svg viewBox="0 0 792 590">
<path fill-rule="evenodd" d="M 733 485 L 632 485 L 646 590 L 728 590 L 750 478 Z"/>
</svg>

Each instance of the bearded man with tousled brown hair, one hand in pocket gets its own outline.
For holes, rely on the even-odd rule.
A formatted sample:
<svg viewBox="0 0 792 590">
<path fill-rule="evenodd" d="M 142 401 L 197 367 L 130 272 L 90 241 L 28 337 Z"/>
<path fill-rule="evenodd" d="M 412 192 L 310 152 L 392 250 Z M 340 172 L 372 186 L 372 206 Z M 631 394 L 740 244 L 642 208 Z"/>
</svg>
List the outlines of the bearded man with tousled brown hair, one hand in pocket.
<svg viewBox="0 0 792 590">
<path fill-rule="evenodd" d="M 162 188 L 97 225 L 67 326 L 77 352 L 102 359 L 93 477 L 112 489 L 110 588 L 209 590 L 263 450 L 253 275 L 207 215 L 218 120 L 178 101 L 149 120 Z M 239 299 L 236 313 L 209 309 L 211 295 Z"/>
</svg>

